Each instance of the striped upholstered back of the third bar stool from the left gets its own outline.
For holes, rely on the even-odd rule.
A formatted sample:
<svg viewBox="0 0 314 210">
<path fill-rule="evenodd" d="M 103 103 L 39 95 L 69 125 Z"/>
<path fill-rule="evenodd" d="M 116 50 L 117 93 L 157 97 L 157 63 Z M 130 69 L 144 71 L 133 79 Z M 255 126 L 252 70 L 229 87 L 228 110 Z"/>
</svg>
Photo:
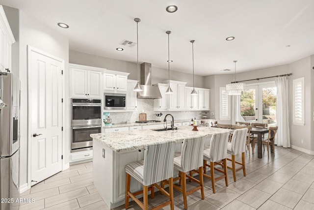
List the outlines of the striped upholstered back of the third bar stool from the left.
<svg viewBox="0 0 314 210">
<path fill-rule="evenodd" d="M 210 162 L 227 158 L 229 131 L 215 133 L 210 140 Z"/>
</svg>

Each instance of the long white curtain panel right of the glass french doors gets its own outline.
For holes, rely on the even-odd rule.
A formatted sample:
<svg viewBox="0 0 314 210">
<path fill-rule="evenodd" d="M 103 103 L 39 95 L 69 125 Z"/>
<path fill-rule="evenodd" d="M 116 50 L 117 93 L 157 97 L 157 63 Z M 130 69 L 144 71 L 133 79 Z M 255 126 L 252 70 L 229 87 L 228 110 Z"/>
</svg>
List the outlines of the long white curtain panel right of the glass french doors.
<svg viewBox="0 0 314 210">
<path fill-rule="evenodd" d="M 277 146 L 283 146 L 284 148 L 290 147 L 290 135 L 289 135 L 289 113 L 288 113 L 288 80 L 287 77 L 276 78 L 277 87 L 277 140 L 275 144 Z"/>
</svg>

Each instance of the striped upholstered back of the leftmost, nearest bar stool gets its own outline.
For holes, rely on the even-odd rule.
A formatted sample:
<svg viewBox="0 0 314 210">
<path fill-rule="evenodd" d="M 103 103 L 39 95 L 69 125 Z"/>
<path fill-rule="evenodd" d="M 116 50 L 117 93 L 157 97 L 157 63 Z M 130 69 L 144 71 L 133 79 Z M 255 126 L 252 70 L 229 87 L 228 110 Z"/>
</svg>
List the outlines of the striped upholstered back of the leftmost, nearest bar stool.
<svg viewBox="0 0 314 210">
<path fill-rule="evenodd" d="M 162 141 L 146 145 L 143 182 L 148 186 L 173 177 L 175 141 Z"/>
</svg>

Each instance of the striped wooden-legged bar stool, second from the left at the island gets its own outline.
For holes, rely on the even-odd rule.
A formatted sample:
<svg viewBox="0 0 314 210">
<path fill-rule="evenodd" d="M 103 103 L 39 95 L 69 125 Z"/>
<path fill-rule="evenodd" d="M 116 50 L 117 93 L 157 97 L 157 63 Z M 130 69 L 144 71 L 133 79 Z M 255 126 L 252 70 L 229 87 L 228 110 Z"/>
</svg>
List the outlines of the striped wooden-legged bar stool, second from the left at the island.
<svg viewBox="0 0 314 210">
<path fill-rule="evenodd" d="M 187 210 L 186 196 L 201 190 L 201 196 L 204 200 L 204 182 L 203 182 L 203 151 L 204 151 L 205 138 L 195 137 L 192 139 L 185 139 L 181 148 L 181 155 L 174 158 L 174 169 L 179 171 L 179 177 L 174 181 L 180 180 L 180 186 L 174 185 L 173 187 L 183 193 L 184 209 Z M 198 169 L 200 180 L 197 180 L 189 175 L 187 172 Z M 186 177 L 195 181 L 199 186 L 186 191 Z M 170 183 L 169 183 L 170 186 Z"/>
</svg>

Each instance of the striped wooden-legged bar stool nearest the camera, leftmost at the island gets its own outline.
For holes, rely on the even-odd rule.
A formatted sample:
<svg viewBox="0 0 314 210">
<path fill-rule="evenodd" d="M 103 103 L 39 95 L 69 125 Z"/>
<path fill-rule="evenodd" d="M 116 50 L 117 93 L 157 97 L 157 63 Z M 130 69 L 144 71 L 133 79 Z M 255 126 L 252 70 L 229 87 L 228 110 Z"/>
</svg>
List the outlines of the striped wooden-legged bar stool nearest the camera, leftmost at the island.
<svg viewBox="0 0 314 210">
<path fill-rule="evenodd" d="M 126 200 L 125 208 L 129 209 L 129 199 L 132 198 L 143 210 L 148 210 L 148 191 L 154 198 L 154 187 L 165 194 L 169 201 L 154 207 L 154 210 L 170 205 L 174 210 L 173 200 L 173 160 L 175 153 L 175 141 L 162 141 L 146 145 L 144 160 L 132 162 L 126 165 Z M 130 191 L 131 177 L 143 184 L 143 190 L 132 193 Z M 156 183 L 169 179 L 169 193 Z M 143 203 L 135 196 L 143 194 Z"/>
</svg>

